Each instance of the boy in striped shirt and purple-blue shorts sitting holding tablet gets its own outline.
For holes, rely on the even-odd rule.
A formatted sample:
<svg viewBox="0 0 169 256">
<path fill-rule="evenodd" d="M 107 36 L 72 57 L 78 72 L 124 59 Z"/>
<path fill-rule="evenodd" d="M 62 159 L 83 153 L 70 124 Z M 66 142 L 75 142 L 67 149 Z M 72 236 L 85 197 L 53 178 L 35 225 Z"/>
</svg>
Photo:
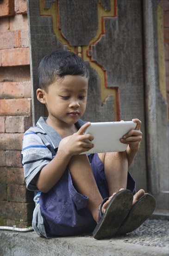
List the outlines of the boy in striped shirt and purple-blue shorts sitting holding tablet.
<svg viewBox="0 0 169 256">
<path fill-rule="evenodd" d="M 125 152 L 115 157 L 79 155 L 94 147 L 94 137 L 84 135 L 90 122 L 80 119 L 88 77 L 85 62 L 69 51 L 48 54 L 39 65 L 37 97 L 49 115 L 25 132 L 22 163 L 27 189 L 40 191 L 32 225 L 47 238 L 93 230 L 96 239 L 125 234 L 138 228 L 156 206 L 143 189 L 135 194 L 128 173 L 142 137 L 138 119 L 133 120 L 136 129 L 120 139 L 128 144 Z"/>
</svg>

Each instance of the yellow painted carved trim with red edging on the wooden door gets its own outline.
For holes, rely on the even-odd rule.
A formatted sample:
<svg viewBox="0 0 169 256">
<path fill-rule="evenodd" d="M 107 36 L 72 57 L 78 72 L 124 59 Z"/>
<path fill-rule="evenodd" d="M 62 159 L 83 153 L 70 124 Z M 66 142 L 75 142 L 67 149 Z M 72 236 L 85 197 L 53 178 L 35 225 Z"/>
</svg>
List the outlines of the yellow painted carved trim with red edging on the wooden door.
<svg viewBox="0 0 169 256">
<path fill-rule="evenodd" d="M 94 38 L 89 42 L 88 46 L 78 46 L 77 47 L 77 54 L 79 56 L 83 56 L 83 60 L 84 61 L 89 61 L 91 67 L 93 67 L 97 74 L 98 77 L 100 78 L 100 96 L 101 96 L 101 102 L 103 103 L 105 101 L 105 99 L 107 98 L 107 95 L 113 95 L 114 96 L 114 102 L 115 102 L 115 106 L 114 106 L 114 110 L 115 113 L 117 112 L 117 107 L 116 107 L 116 90 L 115 89 L 110 89 L 110 88 L 106 88 L 105 86 L 105 76 L 104 76 L 104 70 L 99 67 L 96 63 L 92 62 L 90 60 L 90 58 L 87 55 L 87 52 L 89 50 L 89 47 L 91 45 L 94 45 L 97 41 L 99 41 L 101 39 L 101 34 L 103 33 L 103 27 L 102 27 L 102 18 L 103 17 L 114 17 L 115 16 L 115 9 L 114 9 L 114 0 L 110 0 L 110 4 L 111 4 L 111 10 L 110 11 L 105 11 L 104 8 L 102 7 L 101 3 L 98 1 L 98 29 L 97 32 L 94 36 Z M 47 15 L 47 16 L 52 16 L 52 20 L 53 20 L 53 31 L 54 34 L 56 35 L 57 39 L 60 40 L 63 45 L 68 46 L 68 49 L 71 50 L 72 52 L 75 53 L 75 46 L 70 46 L 69 42 L 63 37 L 63 34 L 61 33 L 61 30 L 58 27 L 58 2 L 53 2 L 50 9 L 44 9 L 44 1 L 39 0 L 39 9 L 40 9 L 40 15 Z"/>
</svg>

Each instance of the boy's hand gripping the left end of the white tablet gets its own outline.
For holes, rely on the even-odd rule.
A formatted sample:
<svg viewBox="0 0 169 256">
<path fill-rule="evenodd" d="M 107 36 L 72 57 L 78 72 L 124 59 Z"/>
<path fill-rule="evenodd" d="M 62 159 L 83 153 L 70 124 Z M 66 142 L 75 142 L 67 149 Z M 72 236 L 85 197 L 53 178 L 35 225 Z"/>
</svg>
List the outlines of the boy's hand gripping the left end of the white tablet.
<svg viewBox="0 0 169 256">
<path fill-rule="evenodd" d="M 92 141 L 94 136 L 84 134 L 88 126 L 90 126 L 90 122 L 81 126 L 81 128 L 73 135 L 63 138 L 59 143 L 58 150 L 63 150 L 65 154 L 73 156 L 93 148 L 94 144 L 92 142 L 87 142 L 86 140 Z"/>
</svg>

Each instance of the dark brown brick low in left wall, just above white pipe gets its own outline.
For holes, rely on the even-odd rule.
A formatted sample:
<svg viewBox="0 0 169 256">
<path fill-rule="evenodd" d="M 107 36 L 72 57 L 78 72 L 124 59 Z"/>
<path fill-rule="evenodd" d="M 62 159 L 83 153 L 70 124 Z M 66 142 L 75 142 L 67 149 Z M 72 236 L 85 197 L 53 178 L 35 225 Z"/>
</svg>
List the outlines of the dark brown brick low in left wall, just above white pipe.
<svg viewBox="0 0 169 256">
<path fill-rule="evenodd" d="M 0 216 L 2 218 L 31 221 L 35 203 L 0 202 Z"/>
</svg>

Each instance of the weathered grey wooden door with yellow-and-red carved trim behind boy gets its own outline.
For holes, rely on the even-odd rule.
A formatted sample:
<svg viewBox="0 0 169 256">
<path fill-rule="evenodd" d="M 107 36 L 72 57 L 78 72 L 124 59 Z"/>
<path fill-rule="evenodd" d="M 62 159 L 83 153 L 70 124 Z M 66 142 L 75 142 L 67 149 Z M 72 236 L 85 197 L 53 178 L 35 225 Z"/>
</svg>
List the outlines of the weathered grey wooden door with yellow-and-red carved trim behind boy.
<svg viewBox="0 0 169 256">
<path fill-rule="evenodd" d="M 39 61 L 56 49 L 75 52 L 90 72 L 82 119 L 142 121 L 143 139 L 130 172 L 137 189 L 147 189 L 141 1 L 29 0 L 28 17 L 34 122 L 44 115 L 35 94 Z"/>
</svg>

